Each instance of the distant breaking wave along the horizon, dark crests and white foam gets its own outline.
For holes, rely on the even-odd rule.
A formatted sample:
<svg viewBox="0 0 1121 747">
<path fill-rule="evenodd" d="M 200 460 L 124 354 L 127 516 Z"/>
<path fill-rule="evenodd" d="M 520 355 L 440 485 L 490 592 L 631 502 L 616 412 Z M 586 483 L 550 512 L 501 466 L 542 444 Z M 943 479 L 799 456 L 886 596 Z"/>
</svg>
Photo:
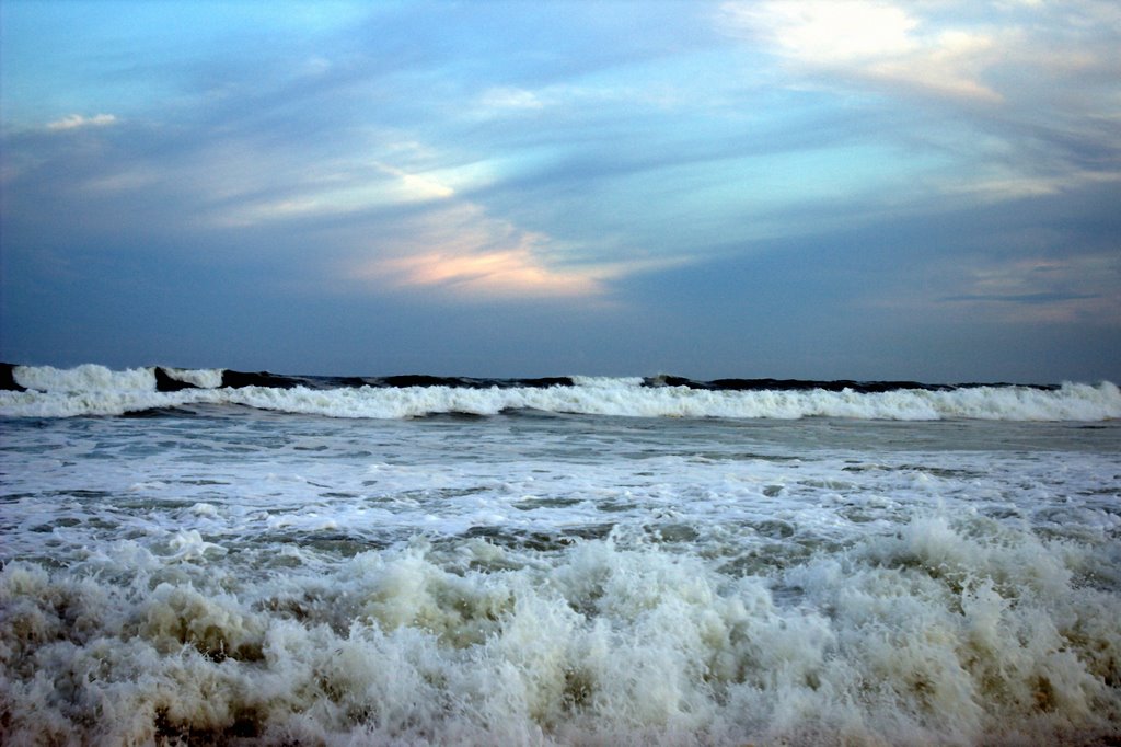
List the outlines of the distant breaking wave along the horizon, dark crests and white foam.
<svg viewBox="0 0 1121 747">
<path fill-rule="evenodd" d="M 936 421 L 1103 421 L 1121 417 L 1121 391 L 1096 385 L 806 381 L 658 377 L 485 379 L 324 377 L 145 367 L 111 370 L 0 366 L 0 415 L 126 415 L 193 405 L 243 405 L 331 417 L 409 418 L 508 411 L 632 417 L 835 417 Z"/>
</svg>

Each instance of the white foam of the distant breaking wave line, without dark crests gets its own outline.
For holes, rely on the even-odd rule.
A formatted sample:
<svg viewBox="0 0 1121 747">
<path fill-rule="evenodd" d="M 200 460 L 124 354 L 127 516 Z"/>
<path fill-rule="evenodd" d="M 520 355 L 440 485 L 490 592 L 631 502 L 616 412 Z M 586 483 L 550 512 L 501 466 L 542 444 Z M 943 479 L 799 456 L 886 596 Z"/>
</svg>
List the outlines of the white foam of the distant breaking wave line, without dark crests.
<svg viewBox="0 0 1121 747">
<path fill-rule="evenodd" d="M 1109 381 L 1064 384 L 1058 389 L 981 386 L 953 390 L 897 389 L 731 391 L 684 386 L 642 387 L 641 379 L 577 377 L 573 386 L 547 388 L 358 387 L 290 389 L 213 388 L 221 371 L 176 371 L 176 378 L 210 388 L 157 393 L 151 369 L 110 371 L 100 366 L 59 370 L 17 367 L 15 378 L 33 391 L 0 393 L 0 414 L 67 417 L 118 415 L 189 404 L 240 404 L 332 417 L 407 418 L 438 413 L 494 415 L 509 409 L 637 417 L 781 418 L 844 417 L 935 421 L 1101 421 L 1121 417 L 1121 391 Z"/>
</svg>

